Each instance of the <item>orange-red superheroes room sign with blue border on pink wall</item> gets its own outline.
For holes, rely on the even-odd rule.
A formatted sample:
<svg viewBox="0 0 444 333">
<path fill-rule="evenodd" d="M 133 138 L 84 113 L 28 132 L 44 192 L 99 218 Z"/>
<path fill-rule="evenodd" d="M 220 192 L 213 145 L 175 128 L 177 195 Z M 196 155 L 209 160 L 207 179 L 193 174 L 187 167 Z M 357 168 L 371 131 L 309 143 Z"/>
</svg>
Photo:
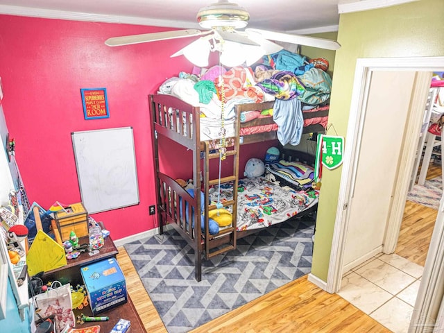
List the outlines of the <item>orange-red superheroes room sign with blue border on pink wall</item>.
<svg viewBox="0 0 444 333">
<path fill-rule="evenodd" d="M 106 88 L 80 89 L 85 119 L 109 118 Z"/>
</svg>

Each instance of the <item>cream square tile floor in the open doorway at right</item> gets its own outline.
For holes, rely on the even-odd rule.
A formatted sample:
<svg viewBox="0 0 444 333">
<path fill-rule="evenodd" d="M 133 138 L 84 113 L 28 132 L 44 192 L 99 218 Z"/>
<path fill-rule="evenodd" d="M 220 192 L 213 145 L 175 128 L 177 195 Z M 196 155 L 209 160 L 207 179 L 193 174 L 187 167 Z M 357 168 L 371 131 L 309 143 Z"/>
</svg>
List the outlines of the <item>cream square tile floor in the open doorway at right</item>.
<svg viewBox="0 0 444 333">
<path fill-rule="evenodd" d="M 406 333 L 424 267 L 379 254 L 344 274 L 339 296 L 395 333 Z"/>
</svg>

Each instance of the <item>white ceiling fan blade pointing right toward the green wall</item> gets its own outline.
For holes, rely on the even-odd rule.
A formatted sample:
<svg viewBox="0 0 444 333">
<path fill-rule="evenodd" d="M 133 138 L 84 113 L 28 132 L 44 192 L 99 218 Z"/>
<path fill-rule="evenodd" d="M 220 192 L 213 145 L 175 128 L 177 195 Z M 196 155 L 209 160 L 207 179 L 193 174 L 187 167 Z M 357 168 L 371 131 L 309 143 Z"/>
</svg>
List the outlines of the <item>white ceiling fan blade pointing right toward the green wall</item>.
<svg viewBox="0 0 444 333">
<path fill-rule="evenodd" d="M 278 33 L 275 31 L 266 31 L 261 29 L 252 29 L 252 28 L 245 29 L 245 31 L 260 33 L 262 37 L 266 38 L 267 40 L 276 40 L 291 44 L 314 46 L 318 47 L 319 49 L 337 50 L 341 47 L 341 45 L 338 42 L 334 40 L 326 40 L 324 38 L 292 35 L 290 33 Z"/>
</svg>

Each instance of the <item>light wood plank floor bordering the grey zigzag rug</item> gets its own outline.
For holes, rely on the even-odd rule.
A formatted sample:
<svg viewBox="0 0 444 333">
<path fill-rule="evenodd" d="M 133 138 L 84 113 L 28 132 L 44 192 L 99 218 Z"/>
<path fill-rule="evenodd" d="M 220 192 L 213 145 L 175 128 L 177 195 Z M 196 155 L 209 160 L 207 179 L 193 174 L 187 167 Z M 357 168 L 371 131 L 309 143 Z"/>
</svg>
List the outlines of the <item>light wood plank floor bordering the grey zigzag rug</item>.
<svg viewBox="0 0 444 333">
<path fill-rule="evenodd" d="M 128 293 L 144 323 L 146 332 L 167 332 L 125 248 L 119 247 L 117 260 L 125 274 Z M 323 291 L 308 282 L 307 276 L 304 276 L 191 332 L 384 333 L 390 331 L 341 296 Z"/>
</svg>

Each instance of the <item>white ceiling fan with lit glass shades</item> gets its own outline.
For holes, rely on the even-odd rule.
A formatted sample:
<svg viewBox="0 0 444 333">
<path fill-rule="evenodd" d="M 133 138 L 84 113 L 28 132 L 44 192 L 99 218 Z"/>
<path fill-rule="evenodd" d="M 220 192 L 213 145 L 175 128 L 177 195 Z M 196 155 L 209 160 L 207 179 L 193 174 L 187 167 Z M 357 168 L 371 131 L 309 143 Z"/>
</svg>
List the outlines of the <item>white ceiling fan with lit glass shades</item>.
<svg viewBox="0 0 444 333">
<path fill-rule="evenodd" d="M 234 67 L 244 62 L 249 66 L 266 54 L 282 50 L 283 46 L 275 42 L 314 46 L 330 50 L 336 50 L 341 47 L 334 40 L 317 37 L 253 28 L 239 31 L 237 29 L 247 26 L 250 15 L 245 8 L 236 3 L 230 3 L 228 0 L 219 0 L 217 3 L 210 4 L 210 6 L 200 8 L 196 19 L 202 28 L 209 30 L 187 29 L 112 37 L 106 40 L 105 44 L 108 46 L 121 46 L 201 36 L 171 56 L 183 55 L 199 67 L 206 67 L 208 65 L 210 51 L 219 51 L 221 63 L 225 66 Z M 271 42 L 272 40 L 275 42 Z"/>
</svg>

